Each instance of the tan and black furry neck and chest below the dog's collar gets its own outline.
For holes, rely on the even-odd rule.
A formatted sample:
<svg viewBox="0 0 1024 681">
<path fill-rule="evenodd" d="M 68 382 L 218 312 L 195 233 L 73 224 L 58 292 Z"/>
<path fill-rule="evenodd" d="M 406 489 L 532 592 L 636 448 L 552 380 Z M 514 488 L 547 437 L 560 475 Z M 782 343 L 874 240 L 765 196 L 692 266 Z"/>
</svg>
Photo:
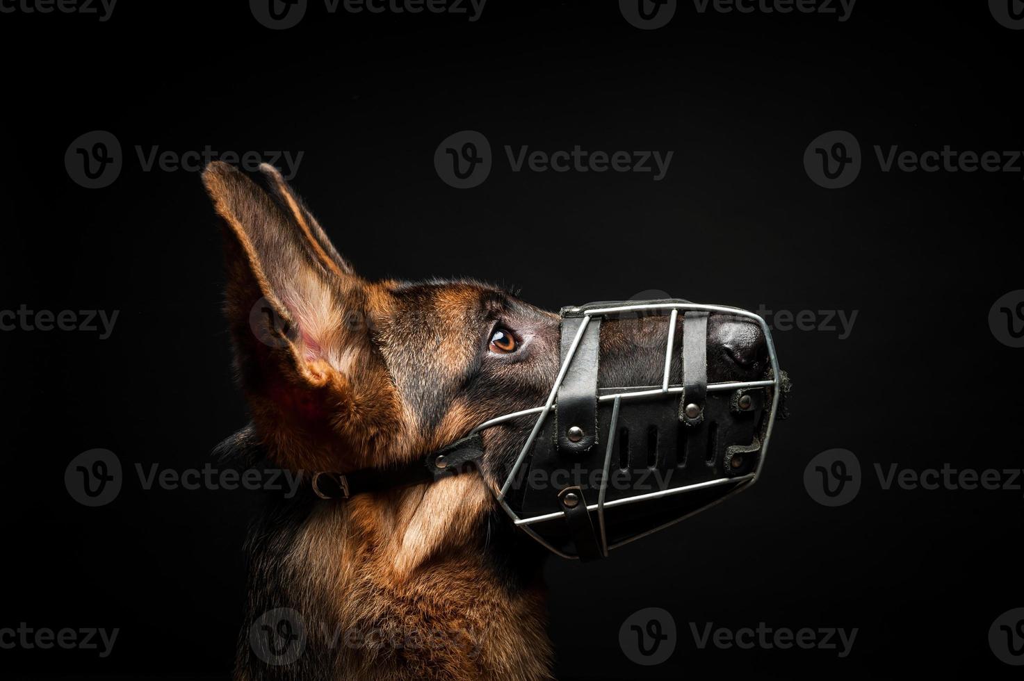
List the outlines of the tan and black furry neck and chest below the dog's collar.
<svg viewBox="0 0 1024 681">
<path fill-rule="evenodd" d="M 307 502 L 254 533 L 251 619 L 300 613 L 296 678 L 551 678 L 540 560 L 501 555 L 492 503 L 476 475 Z M 247 645 L 238 676 L 261 678 Z"/>
</svg>

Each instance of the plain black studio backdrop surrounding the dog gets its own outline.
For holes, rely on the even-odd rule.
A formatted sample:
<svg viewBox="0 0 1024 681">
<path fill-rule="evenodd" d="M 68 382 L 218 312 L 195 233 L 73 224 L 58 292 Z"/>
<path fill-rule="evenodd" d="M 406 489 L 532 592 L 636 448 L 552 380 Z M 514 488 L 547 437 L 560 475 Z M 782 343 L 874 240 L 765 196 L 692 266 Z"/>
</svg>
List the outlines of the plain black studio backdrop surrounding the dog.
<svg viewBox="0 0 1024 681">
<path fill-rule="evenodd" d="M 953 6 L 955 5 L 955 6 Z M 873 145 L 1021 150 L 1024 32 L 984 2 L 858 2 L 817 14 L 697 13 L 656 31 L 613 2 L 490 0 L 465 16 L 330 15 L 287 31 L 246 2 L 122 0 L 109 22 L 0 14 L 5 207 L 0 308 L 118 309 L 108 340 L 0 334 L 6 437 L 0 627 L 120 628 L 113 653 L 0 650 L 10 676 L 224 678 L 257 493 L 143 491 L 101 508 L 63 471 L 93 448 L 201 467 L 246 422 L 232 385 L 217 222 L 197 173 L 135 145 L 303 151 L 293 181 L 369 278 L 470 275 L 557 309 L 645 290 L 794 312 L 858 311 L 849 338 L 777 331 L 795 382 L 761 482 L 599 564 L 551 559 L 564 679 L 949 672 L 1008 677 L 992 621 L 1024 605 L 1022 492 L 883 491 L 874 464 L 1021 466 L 1020 357 L 988 328 L 1022 288 L 1022 173 L 884 173 Z M 109 130 L 124 169 L 86 189 L 63 163 Z M 473 129 L 490 176 L 444 184 L 433 154 Z M 860 141 L 850 186 L 803 167 Z M 650 173 L 514 173 L 503 146 L 674 151 Z M 864 481 L 815 503 L 807 462 L 854 452 Z M 672 658 L 620 650 L 635 610 L 672 612 Z M 697 649 L 689 623 L 859 628 L 852 653 Z"/>
</svg>

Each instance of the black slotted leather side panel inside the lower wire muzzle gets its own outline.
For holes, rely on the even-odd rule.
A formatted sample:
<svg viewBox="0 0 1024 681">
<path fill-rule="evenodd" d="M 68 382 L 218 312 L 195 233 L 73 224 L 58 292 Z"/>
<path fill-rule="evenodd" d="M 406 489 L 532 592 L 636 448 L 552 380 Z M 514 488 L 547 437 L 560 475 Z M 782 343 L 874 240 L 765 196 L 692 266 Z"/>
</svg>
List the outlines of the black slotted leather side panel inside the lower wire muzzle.
<svg viewBox="0 0 1024 681">
<path fill-rule="evenodd" d="M 662 495 L 656 505 L 682 517 L 725 496 L 736 478 L 745 479 L 757 467 L 760 456 L 760 426 L 763 417 L 764 388 L 749 409 L 734 411 L 733 392 L 713 392 L 707 397 L 701 423 L 687 426 L 679 420 L 680 399 L 652 398 L 621 402 L 617 423 L 611 432 L 612 401 L 600 402 L 598 427 L 600 439 L 611 442 L 610 465 L 605 484 L 605 514 L 609 522 L 609 543 L 624 541 L 630 535 L 652 529 L 656 524 L 641 522 L 649 514 L 644 507 L 652 499 L 632 501 L 648 495 Z M 752 390 L 751 392 L 753 392 Z M 613 395 L 603 389 L 602 395 Z M 579 486 L 588 506 L 598 503 L 604 478 L 605 446 L 595 445 L 580 454 L 561 451 L 554 444 L 554 420 L 538 437 L 532 456 L 523 474 L 513 485 L 510 504 L 523 518 L 557 514 L 561 511 L 559 493 Z M 692 485 L 712 484 L 703 494 L 675 492 Z M 717 488 L 720 488 L 717 490 Z M 656 498 L 656 497 L 654 497 Z M 592 511 L 596 513 L 596 511 Z M 652 518 L 659 521 L 660 517 Z M 595 518 L 596 521 L 596 518 Z M 532 523 L 534 528 L 557 541 L 557 518 Z M 612 528 L 621 527 L 621 531 Z"/>
</svg>

